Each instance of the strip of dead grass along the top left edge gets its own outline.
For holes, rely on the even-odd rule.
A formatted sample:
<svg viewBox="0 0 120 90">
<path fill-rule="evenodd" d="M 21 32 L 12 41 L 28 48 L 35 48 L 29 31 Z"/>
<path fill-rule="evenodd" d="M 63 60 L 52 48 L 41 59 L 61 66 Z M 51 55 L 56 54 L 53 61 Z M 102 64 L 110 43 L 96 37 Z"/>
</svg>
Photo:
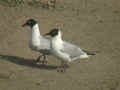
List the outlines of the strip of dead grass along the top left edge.
<svg viewBox="0 0 120 90">
<path fill-rule="evenodd" d="M 0 4 L 9 7 L 27 4 L 32 7 L 55 8 L 56 0 L 0 0 Z"/>
</svg>

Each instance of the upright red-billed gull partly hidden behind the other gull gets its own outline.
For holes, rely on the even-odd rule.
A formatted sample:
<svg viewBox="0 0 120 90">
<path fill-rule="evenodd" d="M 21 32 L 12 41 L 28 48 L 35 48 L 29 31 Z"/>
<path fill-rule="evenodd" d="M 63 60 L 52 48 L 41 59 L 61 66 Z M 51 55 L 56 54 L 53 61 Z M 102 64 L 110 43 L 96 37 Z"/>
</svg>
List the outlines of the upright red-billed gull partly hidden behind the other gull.
<svg viewBox="0 0 120 90">
<path fill-rule="evenodd" d="M 29 26 L 31 28 L 29 47 L 37 52 L 40 52 L 40 56 L 37 58 L 36 62 L 43 65 L 47 63 L 46 55 L 50 54 L 50 41 L 40 34 L 39 25 L 36 20 L 28 19 L 22 27 Z M 40 58 L 43 57 L 43 60 Z"/>
</svg>

